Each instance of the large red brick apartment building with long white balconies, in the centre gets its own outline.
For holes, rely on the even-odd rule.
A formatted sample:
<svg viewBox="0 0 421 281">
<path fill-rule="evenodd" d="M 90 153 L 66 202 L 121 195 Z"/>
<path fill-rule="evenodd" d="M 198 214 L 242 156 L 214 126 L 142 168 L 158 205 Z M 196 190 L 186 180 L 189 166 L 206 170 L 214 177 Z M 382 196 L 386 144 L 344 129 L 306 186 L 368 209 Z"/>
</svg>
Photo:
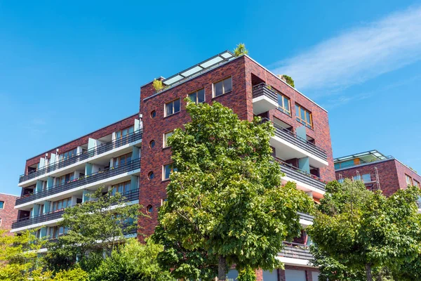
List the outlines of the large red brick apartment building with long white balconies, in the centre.
<svg viewBox="0 0 421 281">
<path fill-rule="evenodd" d="M 151 235 L 171 173 L 166 139 L 189 122 L 186 97 L 198 103 L 218 101 L 241 119 L 251 121 L 258 115 L 272 122 L 276 135 L 271 145 L 285 174 L 283 181 L 295 181 L 315 202 L 323 197 L 326 181 L 335 179 L 326 110 L 248 55 L 234 57 L 225 51 L 159 79 L 166 86 L 162 91 L 156 92 L 152 81 L 141 86 L 139 114 L 27 160 L 14 232 L 41 226 L 40 236 L 62 235 L 65 230 L 55 226 L 62 209 L 86 201 L 86 193 L 105 185 L 142 204 L 151 218 L 139 223 L 142 232 Z M 300 222 L 302 236 L 279 253 L 286 269 L 260 270 L 258 280 L 318 280 L 306 247 L 311 240 L 305 228 L 312 217 L 300 214 Z M 235 280 L 236 274 L 231 270 L 228 277 Z"/>
</svg>

